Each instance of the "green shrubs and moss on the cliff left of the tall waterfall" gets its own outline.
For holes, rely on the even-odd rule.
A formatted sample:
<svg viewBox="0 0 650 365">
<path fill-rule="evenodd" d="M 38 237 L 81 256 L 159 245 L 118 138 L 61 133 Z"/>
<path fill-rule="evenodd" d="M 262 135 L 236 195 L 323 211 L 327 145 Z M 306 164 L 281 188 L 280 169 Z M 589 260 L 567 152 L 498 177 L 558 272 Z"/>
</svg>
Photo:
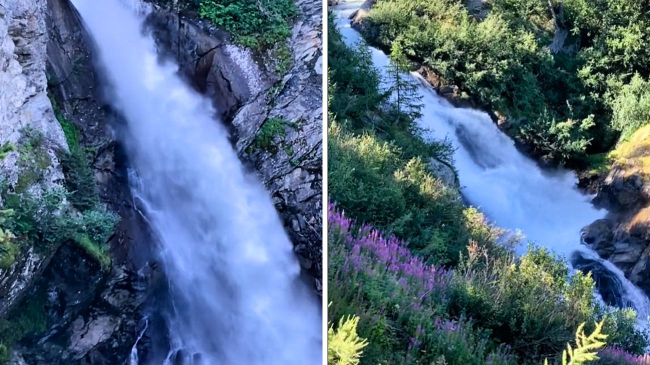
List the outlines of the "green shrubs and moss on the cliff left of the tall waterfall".
<svg viewBox="0 0 650 365">
<path fill-rule="evenodd" d="M 99 202 L 95 180 L 81 134 L 56 107 L 55 115 L 66 134 L 69 151 L 59 151 L 65 186 L 49 183 L 45 173 L 52 163 L 44 136 L 23 129 L 17 147 L 18 182 L 0 181 L 0 270 L 8 269 L 23 249 L 47 257 L 60 245 L 77 244 L 109 268 L 107 241 L 118 217 Z M 0 364 L 8 360 L 15 342 L 46 329 L 45 293 L 34 294 L 6 318 L 0 318 Z"/>
</svg>

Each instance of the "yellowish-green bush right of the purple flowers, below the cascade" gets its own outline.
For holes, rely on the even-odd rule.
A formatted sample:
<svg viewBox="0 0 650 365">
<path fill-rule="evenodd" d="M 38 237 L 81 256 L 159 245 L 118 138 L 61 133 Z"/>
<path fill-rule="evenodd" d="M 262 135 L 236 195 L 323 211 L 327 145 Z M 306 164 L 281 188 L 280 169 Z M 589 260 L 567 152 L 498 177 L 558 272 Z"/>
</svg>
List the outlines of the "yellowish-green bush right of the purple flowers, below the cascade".
<svg viewBox="0 0 650 365">
<path fill-rule="evenodd" d="M 520 258 L 470 251 L 455 271 L 450 311 L 471 316 L 520 357 L 541 359 L 561 351 L 573 329 L 595 318 L 594 284 L 546 249 Z"/>
</svg>

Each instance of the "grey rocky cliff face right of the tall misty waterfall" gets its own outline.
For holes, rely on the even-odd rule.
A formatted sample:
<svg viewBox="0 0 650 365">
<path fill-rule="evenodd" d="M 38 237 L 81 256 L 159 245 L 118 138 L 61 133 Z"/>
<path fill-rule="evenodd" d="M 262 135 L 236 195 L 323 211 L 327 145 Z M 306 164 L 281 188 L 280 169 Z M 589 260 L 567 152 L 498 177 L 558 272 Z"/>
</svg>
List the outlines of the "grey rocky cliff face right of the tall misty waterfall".
<svg viewBox="0 0 650 365">
<path fill-rule="evenodd" d="M 276 73 L 272 51 L 255 55 L 195 14 L 155 3 L 148 18 L 159 44 L 194 86 L 213 99 L 272 195 L 302 267 L 322 292 L 322 12 L 298 0 L 292 67 Z"/>
</svg>

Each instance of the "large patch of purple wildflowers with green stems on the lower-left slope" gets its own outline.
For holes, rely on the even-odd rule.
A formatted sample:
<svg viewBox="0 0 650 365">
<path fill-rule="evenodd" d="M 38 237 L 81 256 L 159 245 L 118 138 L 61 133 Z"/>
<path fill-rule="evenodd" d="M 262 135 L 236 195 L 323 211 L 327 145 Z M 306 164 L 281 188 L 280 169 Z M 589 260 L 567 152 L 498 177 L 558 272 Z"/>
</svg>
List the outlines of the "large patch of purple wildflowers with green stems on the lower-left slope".
<svg viewBox="0 0 650 365">
<path fill-rule="evenodd" d="M 413 256 L 394 236 L 328 207 L 330 318 L 356 313 L 369 340 L 361 364 L 515 364 L 472 321 L 447 314 L 451 273 Z"/>
</svg>

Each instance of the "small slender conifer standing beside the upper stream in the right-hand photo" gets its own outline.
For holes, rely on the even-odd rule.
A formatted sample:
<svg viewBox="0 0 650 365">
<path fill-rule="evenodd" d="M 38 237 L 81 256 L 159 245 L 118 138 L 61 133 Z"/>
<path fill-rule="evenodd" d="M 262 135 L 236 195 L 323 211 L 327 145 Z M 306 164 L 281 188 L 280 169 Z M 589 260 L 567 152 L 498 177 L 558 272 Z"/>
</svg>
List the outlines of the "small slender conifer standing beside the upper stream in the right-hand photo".
<svg viewBox="0 0 650 365">
<path fill-rule="evenodd" d="M 402 45 L 396 40 L 391 47 L 391 63 L 387 68 L 388 81 L 391 84 L 388 91 L 393 95 L 398 114 L 416 120 L 422 116 L 422 96 L 418 94 L 417 83 L 408 73 L 410 68 L 411 63 Z"/>
</svg>

